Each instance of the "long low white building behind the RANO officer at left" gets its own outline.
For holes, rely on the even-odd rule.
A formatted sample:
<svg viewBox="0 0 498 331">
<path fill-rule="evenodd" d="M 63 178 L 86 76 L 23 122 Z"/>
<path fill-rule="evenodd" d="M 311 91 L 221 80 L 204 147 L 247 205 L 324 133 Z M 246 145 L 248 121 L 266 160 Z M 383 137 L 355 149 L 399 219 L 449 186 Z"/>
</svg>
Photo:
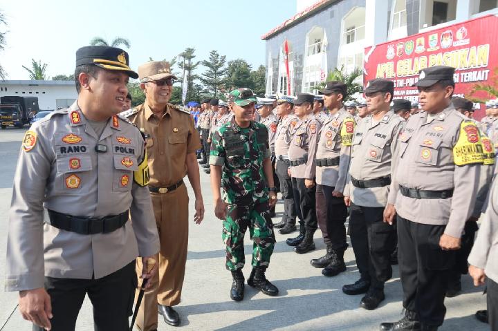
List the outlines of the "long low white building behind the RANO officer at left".
<svg viewBox="0 0 498 331">
<path fill-rule="evenodd" d="M 0 97 L 38 97 L 40 111 L 71 106 L 77 99 L 74 81 L 4 80 L 0 81 Z"/>
</svg>

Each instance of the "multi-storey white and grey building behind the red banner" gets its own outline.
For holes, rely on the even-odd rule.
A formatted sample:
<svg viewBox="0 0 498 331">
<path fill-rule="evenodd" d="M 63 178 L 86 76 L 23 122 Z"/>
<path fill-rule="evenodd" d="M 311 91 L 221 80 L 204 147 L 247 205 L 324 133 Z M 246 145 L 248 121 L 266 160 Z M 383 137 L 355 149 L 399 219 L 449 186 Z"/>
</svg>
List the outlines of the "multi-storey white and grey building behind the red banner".
<svg viewBox="0 0 498 331">
<path fill-rule="evenodd" d="M 362 69 L 368 46 L 497 14 L 497 6 L 498 0 L 297 0 L 297 14 L 261 37 L 266 93 L 316 93 L 333 68 Z"/>
</svg>

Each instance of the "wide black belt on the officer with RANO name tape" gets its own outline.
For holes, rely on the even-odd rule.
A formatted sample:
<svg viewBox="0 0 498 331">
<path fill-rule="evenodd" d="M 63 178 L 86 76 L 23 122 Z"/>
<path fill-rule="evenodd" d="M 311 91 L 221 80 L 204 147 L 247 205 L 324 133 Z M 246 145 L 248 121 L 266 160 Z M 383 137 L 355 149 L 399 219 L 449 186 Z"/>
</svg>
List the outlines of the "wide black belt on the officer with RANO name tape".
<svg viewBox="0 0 498 331">
<path fill-rule="evenodd" d="M 77 234 L 109 234 L 120 229 L 128 221 L 128 211 L 119 215 L 96 217 L 71 216 L 48 210 L 50 225 Z"/>
</svg>

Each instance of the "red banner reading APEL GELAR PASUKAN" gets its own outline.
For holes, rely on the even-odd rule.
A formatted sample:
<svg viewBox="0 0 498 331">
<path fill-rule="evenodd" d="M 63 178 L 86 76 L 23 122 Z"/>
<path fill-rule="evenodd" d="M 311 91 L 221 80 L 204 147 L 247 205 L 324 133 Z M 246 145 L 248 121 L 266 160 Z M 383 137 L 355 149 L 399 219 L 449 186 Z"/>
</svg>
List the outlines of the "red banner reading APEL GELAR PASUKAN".
<svg viewBox="0 0 498 331">
<path fill-rule="evenodd" d="M 403 39 L 365 48 L 364 84 L 374 78 L 394 81 L 394 98 L 418 100 L 412 84 L 418 81 L 418 71 L 431 66 L 455 68 L 454 95 L 468 93 L 476 83 L 492 82 L 498 66 L 498 17 L 488 15 L 419 33 Z M 476 93 L 486 97 L 486 93 Z M 474 117 L 484 115 L 485 106 Z"/>
</svg>

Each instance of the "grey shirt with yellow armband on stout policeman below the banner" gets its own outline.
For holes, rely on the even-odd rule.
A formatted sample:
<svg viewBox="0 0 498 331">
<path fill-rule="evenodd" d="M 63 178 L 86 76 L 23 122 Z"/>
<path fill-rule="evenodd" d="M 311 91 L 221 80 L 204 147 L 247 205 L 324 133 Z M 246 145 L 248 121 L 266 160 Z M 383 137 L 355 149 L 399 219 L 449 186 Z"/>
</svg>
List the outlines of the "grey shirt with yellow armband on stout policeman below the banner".
<svg viewBox="0 0 498 331">
<path fill-rule="evenodd" d="M 469 126 L 464 130 L 465 123 Z M 479 188 L 483 154 L 476 146 L 477 126 L 450 104 L 430 122 L 425 111 L 409 117 L 399 140 L 388 203 L 407 220 L 447 225 L 445 234 L 460 238 Z M 454 189 L 454 193 L 446 199 L 409 198 L 401 194 L 399 185 L 427 191 Z"/>
</svg>

